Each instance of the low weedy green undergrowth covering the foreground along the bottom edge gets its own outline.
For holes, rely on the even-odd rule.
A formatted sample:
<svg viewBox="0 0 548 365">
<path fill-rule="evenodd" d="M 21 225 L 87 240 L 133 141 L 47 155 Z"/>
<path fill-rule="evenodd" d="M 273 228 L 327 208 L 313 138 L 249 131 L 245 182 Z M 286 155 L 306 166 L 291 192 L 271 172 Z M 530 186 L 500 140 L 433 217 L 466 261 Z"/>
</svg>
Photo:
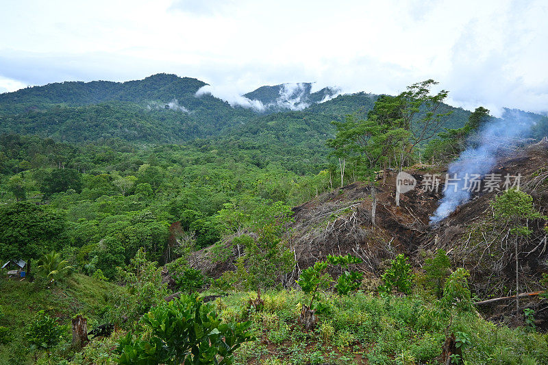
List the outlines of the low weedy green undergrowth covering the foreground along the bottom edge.
<svg viewBox="0 0 548 365">
<path fill-rule="evenodd" d="M 211 294 L 211 293 L 207 293 Z M 216 299 L 223 320 L 251 320 L 256 340 L 242 345 L 234 364 L 437 364 L 445 339 L 429 316 L 432 303 L 418 295 L 378 297 L 330 294 L 316 329 L 304 331 L 297 319 L 300 291 L 268 291 L 264 307 L 249 299 L 256 292 L 233 292 Z M 455 318 L 453 330 L 466 333 L 466 364 L 548 364 L 548 337 L 525 328 L 497 327 L 475 312 Z M 94 340 L 73 364 L 114 364 L 114 338 Z"/>
</svg>

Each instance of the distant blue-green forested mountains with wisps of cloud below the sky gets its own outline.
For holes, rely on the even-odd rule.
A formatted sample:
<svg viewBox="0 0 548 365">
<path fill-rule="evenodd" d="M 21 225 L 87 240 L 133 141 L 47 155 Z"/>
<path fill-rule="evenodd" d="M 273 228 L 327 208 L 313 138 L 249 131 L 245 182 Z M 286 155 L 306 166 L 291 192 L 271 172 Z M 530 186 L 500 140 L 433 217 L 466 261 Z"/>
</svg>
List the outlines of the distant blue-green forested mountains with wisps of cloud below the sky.
<svg viewBox="0 0 548 365">
<path fill-rule="evenodd" d="M 294 145 L 311 138 L 312 145 L 320 147 L 334 134 L 331 121 L 355 112 L 364 115 L 377 99 L 360 92 L 327 100 L 337 90 L 310 93 L 312 84 L 307 83 L 263 86 L 245 95 L 261 101 L 264 110 L 258 111 L 233 108 L 208 93 L 197 95 L 205 85 L 197 79 L 158 74 L 123 83 L 70 81 L 25 88 L 0 95 L 0 132 L 66 142 L 120 138 L 140 143 L 260 133 L 269 136 L 259 138 L 262 142 L 275 138 Z M 454 110 L 447 127 L 462 127 L 469 112 L 447 108 Z"/>
</svg>

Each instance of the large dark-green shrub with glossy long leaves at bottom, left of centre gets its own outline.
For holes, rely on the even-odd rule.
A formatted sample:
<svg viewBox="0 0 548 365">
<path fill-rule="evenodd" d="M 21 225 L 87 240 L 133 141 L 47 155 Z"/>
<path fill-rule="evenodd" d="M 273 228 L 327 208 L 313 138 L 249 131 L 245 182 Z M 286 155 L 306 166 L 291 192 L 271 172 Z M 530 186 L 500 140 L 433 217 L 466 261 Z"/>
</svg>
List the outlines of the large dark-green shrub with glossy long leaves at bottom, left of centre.
<svg viewBox="0 0 548 365">
<path fill-rule="evenodd" d="M 251 323 L 223 323 L 214 305 L 182 295 L 142 317 L 150 336 L 128 333 L 116 353 L 119 364 L 232 364 Z"/>
</svg>

